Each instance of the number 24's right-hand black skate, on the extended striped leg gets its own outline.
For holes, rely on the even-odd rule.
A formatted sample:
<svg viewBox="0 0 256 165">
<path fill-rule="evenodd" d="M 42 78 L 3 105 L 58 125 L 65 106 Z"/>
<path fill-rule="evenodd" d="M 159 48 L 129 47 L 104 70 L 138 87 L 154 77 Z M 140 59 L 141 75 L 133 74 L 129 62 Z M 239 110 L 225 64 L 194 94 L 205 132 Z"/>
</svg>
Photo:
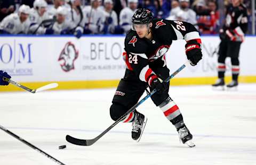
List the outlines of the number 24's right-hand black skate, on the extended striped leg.
<svg viewBox="0 0 256 165">
<path fill-rule="evenodd" d="M 189 147 L 196 146 L 192 141 L 193 135 L 190 134 L 186 125 L 178 128 L 177 131 L 179 133 L 180 141 L 182 141 L 183 144 L 187 144 Z"/>
</svg>

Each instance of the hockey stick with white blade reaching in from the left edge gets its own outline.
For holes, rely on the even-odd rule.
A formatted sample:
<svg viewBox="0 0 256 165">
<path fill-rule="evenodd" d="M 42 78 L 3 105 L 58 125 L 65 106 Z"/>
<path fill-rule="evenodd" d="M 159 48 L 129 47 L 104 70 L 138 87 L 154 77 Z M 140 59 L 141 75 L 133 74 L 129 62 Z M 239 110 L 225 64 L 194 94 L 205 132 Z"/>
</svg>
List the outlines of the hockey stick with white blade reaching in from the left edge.
<svg viewBox="0 0 256 165">
<path fill-rule="evenodd" d="M 3 81 L 9 82 L 9 83 L 11 83 L 11 84 L 13 84 L 13 85 L 15 85 L 15 86 L 18 86 L 19 88 L 22 88 L 22 89 L 24 89 L 24 90 L 26 90 L 26 91 L 29 91 L 29 92 L 31 92 L 31 93 L 37 93 L 37 92 L 40 92 L 40 91 L 44 91 L 44 90 L 56 88 L 56 87 L 58 86 L 57 83 L 51 83 L 51 84 L 44 85 L 44 86 L 42 86 L 42 87 L 40 87 L 40 88 L 37 88 L 37 89 L 29 89 L 29 88 L 27 88 L 26 86 L 23 86 L 23 85 L 21 85 L 21 84 L 15 82 L 15 81 L 12 81 L 11 79 L 8 79 L 8 78 L 6 78 L 6 77 L 3 77 Z"/>
</svg>

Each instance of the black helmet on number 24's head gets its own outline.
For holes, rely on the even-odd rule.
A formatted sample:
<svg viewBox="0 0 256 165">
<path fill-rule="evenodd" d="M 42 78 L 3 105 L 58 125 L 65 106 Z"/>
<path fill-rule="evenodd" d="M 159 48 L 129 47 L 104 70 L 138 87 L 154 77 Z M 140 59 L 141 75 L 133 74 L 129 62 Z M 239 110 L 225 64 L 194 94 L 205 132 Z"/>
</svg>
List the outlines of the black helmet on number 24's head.
<svg viewBox="0 0 256 165">
<path fill-rule="evenodd" d="M 152 20 L 153 14 L 148 8 L 138 8 L 132 16 L 133 24 L 147 24 Z"/>
</svg>

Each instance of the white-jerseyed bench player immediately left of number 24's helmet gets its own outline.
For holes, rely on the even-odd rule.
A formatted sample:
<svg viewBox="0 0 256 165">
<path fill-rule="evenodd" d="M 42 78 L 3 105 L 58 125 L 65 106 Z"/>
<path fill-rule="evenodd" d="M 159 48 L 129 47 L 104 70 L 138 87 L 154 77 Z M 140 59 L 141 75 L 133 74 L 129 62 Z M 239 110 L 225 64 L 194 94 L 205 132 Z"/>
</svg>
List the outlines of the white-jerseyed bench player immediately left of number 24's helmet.
<svg viewBox="0 0 256 165">
<path fill-rule="evenodd" d="M 119 24 L 125 33 L 131 29 L 132 16 L 137 9 L 138 0 L 128 0 L 128 3 L 129 7 L 123 8 L 119 15 Z"/>
</svg>

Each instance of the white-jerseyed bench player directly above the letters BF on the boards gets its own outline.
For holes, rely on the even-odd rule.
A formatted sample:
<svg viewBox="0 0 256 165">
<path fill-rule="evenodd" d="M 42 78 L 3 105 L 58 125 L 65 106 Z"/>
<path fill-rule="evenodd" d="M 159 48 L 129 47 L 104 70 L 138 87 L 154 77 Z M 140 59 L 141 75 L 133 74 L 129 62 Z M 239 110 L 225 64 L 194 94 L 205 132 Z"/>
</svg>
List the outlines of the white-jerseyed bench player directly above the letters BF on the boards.
<svg viewBox="0 0 256 165">
<path fill-rule="evenodd" d="M 99 7 L 100 0 L 92 0 L 91 6 L 85 6 L 84 13 L 84 33 L 85 34 L 99 34 L 104 28 L 105 16 L 103 10 Z"/>
</svg>

